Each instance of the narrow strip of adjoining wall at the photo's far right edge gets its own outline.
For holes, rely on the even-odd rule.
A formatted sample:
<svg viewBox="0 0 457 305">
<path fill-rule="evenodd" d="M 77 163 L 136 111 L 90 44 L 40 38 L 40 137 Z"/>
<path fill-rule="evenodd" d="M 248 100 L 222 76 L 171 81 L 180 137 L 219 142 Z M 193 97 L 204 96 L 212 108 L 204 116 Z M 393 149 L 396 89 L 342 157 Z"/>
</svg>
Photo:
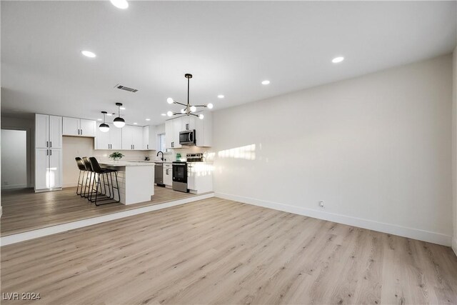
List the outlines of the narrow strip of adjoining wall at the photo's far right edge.
<svg viewBox="0 0 457 305">
<path fill-rule="evenodd" d="M 453 82 L 452 82 L 452 131 L 453 131 L 453 239 L 452 239 L 452 249 L 457 255 L 457 46 L 453 51 Z"/>
</svg>

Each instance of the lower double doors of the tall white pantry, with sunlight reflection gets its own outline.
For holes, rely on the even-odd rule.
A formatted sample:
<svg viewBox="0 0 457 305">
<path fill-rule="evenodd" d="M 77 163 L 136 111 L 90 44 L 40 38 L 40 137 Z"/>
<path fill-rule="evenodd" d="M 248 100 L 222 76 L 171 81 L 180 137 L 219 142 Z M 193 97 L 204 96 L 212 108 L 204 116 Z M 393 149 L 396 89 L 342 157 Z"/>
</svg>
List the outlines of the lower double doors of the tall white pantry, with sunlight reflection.
<svg viewBox="0 0 457 305">
<path fill-rule="evenodd" d="M 35 149 L 35 191 L 62 187 L 62 150 Z"/>
</svg>

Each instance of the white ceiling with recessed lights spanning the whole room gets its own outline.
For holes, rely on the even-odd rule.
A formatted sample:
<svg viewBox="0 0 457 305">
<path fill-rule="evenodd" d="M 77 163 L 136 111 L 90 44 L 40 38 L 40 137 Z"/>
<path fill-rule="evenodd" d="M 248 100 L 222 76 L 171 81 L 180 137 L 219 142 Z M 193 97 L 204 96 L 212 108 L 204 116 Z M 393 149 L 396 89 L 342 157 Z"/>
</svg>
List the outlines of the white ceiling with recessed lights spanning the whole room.
<svg viewBox="0 0 457 305">
<path fill-rule="evenodd" d="M 119 101 L 128 124 L 159 124 L 180 109 L 167 97 L 186 101 L 185 73 L 194 74 L 191 104 L 216 110 L 456 46 L 456 1 L 129 3 L 1 1 L 2 114 L 97 119 Z"/>
</svg>

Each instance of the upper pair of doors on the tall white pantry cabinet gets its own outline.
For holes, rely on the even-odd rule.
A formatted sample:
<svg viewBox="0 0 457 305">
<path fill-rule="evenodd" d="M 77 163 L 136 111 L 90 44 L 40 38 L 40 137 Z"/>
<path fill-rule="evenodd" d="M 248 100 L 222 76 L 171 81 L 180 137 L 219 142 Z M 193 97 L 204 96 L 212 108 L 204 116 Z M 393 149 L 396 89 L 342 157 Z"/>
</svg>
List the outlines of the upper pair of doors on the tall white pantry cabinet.
<svg viewBox="0 0 457 305">
<path fill-rule="evenodd" d="M 62 148 L 62 117 L 35 114 L 35 148 Z"/>
</svg>

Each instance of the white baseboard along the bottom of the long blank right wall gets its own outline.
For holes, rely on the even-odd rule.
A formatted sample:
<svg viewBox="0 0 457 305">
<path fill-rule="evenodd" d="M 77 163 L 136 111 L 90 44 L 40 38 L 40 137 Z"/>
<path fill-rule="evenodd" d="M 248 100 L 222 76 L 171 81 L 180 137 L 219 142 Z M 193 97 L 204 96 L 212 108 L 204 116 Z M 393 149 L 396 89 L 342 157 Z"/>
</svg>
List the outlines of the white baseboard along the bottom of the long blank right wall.
<svg viewBox="0 0 457 305">
<path fill-rule="evenodd" d="M 441 244 L 443 246 L 451 246 L 452 236 L 425 231 L 421 229 L 408 228 L 406 226 L 398 226 L 396 224 L 386 224 L 384 222 L 373 221 L 369 219 L 361 219 L 352 216 L 346 216 L 341 214 L 328 213 L 326 211 L 318 211 L 314 209 L 307 209 L 301 206 L 290 206 L 287 204 L 279 204 L 276 202 L 265 201 L 260 199 L 254 199 L 244 196 L 236 196 L 231 194 L 224 193 L 215 193 L 214 196 L 229 199 L 233 201 L 243 202 L 244 204 L 253 204 L 256 206 L 263 206 L 270 209 L 275 209 L 279 211 L 286 211 L 293 214 L 309 216 L 316 219 L 323 219 L 327 221 L 337 222 L 338 224 L 347 224 L 349 226 L 357 226 L 363 229 L 370 229 L 373 231 L 379 231 L 383 233 L 408 237 L 411 239 L 418 239 L 421 241 L 428 241 L 433 244 Z M 457 246 L 456 246 L 457 248 Z M 454 249 L 456 251 L 456 249 Z M 456 252 L 457 253 L 457 252 Z"/>
</svg>

